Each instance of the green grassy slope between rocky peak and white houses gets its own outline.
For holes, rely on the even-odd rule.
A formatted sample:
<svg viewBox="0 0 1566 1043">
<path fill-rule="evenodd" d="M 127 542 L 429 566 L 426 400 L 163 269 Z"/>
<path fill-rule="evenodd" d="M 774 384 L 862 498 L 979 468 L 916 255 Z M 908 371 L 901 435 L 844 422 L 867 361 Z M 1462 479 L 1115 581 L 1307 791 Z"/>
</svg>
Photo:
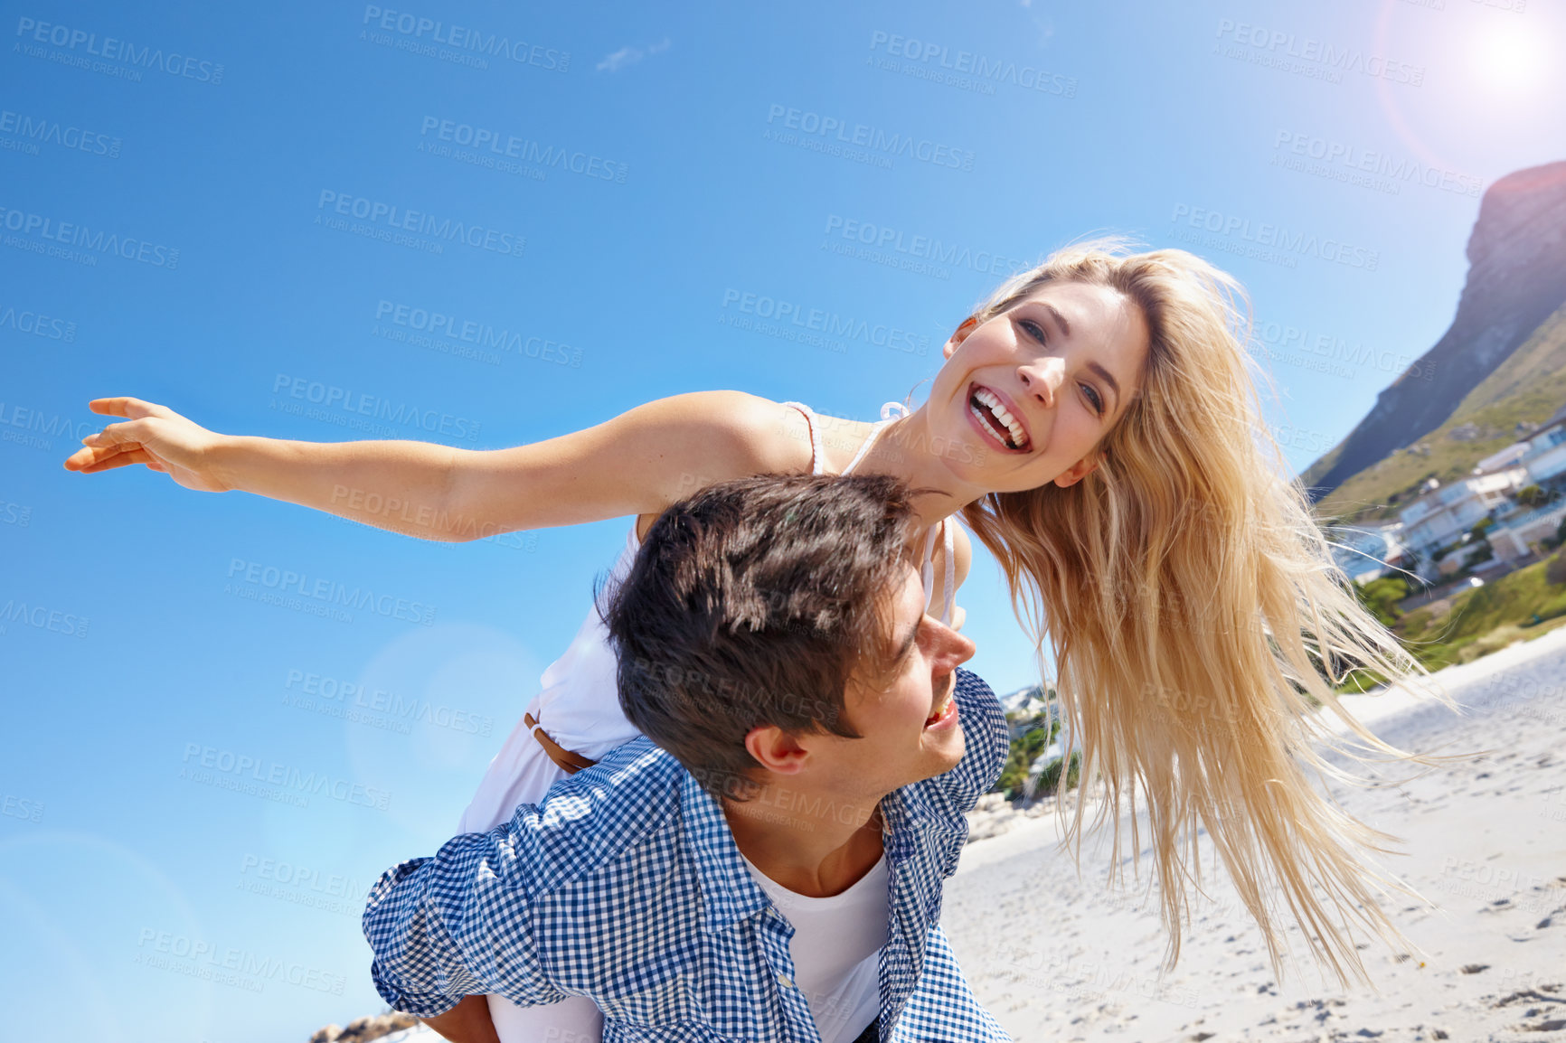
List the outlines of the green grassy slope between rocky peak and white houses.
<svg viewBox="0 0 1566 1043">
<path fill-rule="evenodd" d="M 1566 402 L 1566 305 L 1558 309 L 1452 412 L 1406 449 L 1353 475 L 1322 498 L 1315 512 L 1334 523 L 1397 517 L 1428 478 L 1463 478 L 1486 456 L 1519 440 L 1517 424 L 1538 424 Z M 1342 453 L 1342 443 L 1301 475 L 1309 485 Z"/>
</svg>

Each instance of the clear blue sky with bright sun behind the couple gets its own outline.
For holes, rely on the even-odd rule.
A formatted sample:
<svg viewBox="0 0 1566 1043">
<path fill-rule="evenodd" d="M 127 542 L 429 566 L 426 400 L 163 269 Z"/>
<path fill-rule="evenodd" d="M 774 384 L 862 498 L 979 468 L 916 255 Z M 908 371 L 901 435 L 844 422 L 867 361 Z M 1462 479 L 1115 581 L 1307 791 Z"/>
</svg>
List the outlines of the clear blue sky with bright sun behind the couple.
<svg viewBox="0 0 1566 1043">
<path fill-rule="evenodd" d="M 1123 232 L 1251 291 L 1300 468 L 1450 323 L 1480 188 L 1566 146 L 1543 3 L 752 6 L 9 5 L 8 1037 L 260 1043 L 377 1010 L 363 890 L 454 830 L 626 526 L 420 543 L 70 475 L 88 399 L 366 437 L 291 395 L 319 385 L 445 417 L 368 435 L 473 448 L 698 388 L 871 420 L 1010 263 Z M 1279 227 L 1315 246 L 1265 252 Z M 744 329 L 745 294 L 927 351 Z M 507 348 L 410 341 L 431 313 L 431 343 Z M 392 608 L 265 603 L 252 568 Z M 1027 683 L 993 562 L 963 603 L 976 669 Z"/>
</svg>

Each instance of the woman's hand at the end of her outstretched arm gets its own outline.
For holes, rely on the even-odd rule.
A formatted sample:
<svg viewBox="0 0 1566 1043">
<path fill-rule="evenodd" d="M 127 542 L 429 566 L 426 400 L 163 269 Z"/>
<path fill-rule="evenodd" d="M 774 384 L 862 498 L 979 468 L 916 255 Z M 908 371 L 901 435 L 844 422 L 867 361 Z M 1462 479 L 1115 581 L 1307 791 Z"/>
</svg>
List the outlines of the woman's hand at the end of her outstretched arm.
<svg viewBox="0 0 1566 1043">
<path fill-rule="evenodd" d="M 146 464 L 186 489 L 232 489 L 216 475 L 215 449 L 224 442 L 224 435 L 207 431 L 168 406 L 139 398 L 94 398 L 88 407 L 96 413 L 127 420 L 83 438 L 83 448 L 66 459 L 67 471 L 96 475 L 127 464 Z"/>
</svg>

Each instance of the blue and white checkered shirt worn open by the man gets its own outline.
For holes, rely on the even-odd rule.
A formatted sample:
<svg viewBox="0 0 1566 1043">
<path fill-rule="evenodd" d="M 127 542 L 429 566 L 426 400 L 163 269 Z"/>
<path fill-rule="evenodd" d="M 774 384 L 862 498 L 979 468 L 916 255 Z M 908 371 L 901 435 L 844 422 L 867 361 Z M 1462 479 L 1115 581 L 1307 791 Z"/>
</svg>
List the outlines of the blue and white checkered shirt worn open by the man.
<svg viewBox="0 0 1566 1043">
<path fill-rule="evenodd" d="M 957 709 L 962 761 L 880 805 L 891 875 L 883 1043 L 1010 1038 L 938 924 L 941 882 L 968 838 L 963 813 L 1009 750 L 1001 703 L 966 670 Z M 521 1005 L 589 996 L 604 1043 L 821 1040 L 794 985 L 794 927 L 747 872 L 717 800 L 647 738 L 518 805 L 504 825 L 388 869 L 363 930 L 376 990 L 426 1018 L 473 993 Z"/>
</svg>

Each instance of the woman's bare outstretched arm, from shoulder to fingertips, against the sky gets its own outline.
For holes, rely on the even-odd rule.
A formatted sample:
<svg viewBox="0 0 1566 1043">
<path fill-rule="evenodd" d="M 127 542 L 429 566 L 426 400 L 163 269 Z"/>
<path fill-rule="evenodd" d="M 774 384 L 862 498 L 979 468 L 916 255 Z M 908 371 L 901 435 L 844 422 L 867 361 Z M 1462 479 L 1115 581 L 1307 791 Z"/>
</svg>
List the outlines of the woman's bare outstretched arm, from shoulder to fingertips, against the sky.
<svg viewBox="0 0 1566 1043">
<path fill-rule="evenodd" d="M 465 542 L 662 511 L 702 485 L 810 467 L 791 409 L 741 392 L 675 395 L 568 435 L 509 449 L 413 440 L 294 442 L 224 435 L 138 398 L 85 438 L 67 470 L 146 464 L 186 489 L 252 492 L 426 540 Z"/>
</svg>

